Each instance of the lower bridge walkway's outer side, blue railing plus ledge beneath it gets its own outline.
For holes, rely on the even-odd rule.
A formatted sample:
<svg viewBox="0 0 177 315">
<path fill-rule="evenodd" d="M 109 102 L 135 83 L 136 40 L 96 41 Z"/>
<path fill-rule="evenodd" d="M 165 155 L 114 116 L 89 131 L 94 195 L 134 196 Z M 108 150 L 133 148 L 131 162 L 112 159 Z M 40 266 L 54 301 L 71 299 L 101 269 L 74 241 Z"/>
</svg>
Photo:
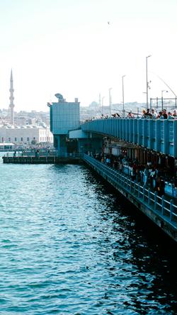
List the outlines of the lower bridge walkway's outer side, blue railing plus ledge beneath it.
<svg viewBox="0 0 177 315">
<path fill-rule="evenodd" d="M 118 189 L 132 204 L 152 219 L 157 226 L 177 241 L 177 205 L 176 199 L 159 197 L 156 192 L 132 182 L 130 177 L 112 167 L 104 165 L 93 157 L 84 154 L 84 161 L 93 167 L 99 175 Z"/>
</svg>

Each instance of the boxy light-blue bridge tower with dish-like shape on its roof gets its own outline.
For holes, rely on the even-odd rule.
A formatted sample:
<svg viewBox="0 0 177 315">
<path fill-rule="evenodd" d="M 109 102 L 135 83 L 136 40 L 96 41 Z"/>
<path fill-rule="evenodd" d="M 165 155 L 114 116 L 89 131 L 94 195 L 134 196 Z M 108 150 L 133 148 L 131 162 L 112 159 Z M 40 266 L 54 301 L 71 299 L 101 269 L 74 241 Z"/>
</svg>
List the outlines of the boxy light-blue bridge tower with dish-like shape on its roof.
<svg viewBox="0 0 177 315">
<path fill-rule="evenodd" d="M 47 103 L 50 107 L 50 131 L 54 136 L 54 146 L 59 153 L 67 152 L 66 138 L 69 131 L 79 128 L 79 101 L 66 101 L 62 94 L 55 94 L 58 101 Z"/>
</svg>

